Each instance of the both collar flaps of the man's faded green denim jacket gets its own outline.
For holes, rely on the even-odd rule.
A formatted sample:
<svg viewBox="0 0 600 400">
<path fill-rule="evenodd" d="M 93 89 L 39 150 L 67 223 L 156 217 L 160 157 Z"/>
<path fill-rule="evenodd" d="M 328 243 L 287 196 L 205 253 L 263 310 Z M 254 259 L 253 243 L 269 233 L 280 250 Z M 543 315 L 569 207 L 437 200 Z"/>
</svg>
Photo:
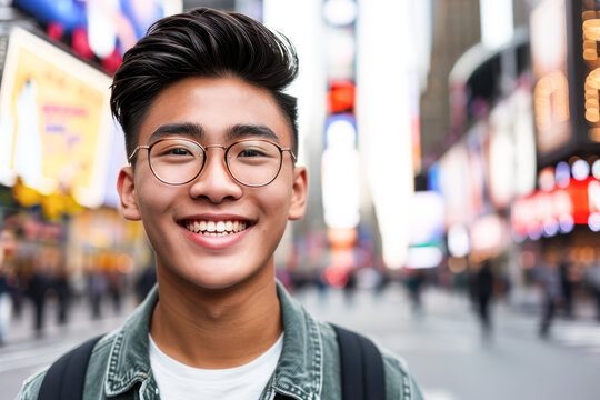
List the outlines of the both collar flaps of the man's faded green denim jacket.
<svg viewBox="0 0 600 400">
<path fill-rule="evenodd" d="M 283 350 L 270 390 L 298 400 L 318 399 L 322 388 L 323 348 L 319 324 L 277 282 L 283 319 Z M 154 286 L 140 307 L 116 332 L 109 354 L 107 397 L 116 397 L 137 383 L 148 384 L 151 374 L 148 332 L 158 302 Z M 146 386 L 144 384 L 144 386 Z"/>
</svg>

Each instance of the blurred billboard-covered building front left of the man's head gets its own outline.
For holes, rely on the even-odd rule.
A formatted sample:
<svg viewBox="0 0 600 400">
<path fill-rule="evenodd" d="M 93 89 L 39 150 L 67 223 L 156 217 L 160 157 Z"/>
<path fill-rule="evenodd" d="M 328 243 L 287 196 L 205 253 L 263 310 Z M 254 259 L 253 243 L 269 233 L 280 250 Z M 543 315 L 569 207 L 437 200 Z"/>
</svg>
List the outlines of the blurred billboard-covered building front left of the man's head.
<svg viewBox="0 0 600 400">
<path fill-rule="evenodd" d="M 109 107 L 110 74 L 156 19 L 181 1 L 20 1 L 0 7 L 0 226 L 10 260 L 84 284 L 101 269 L 127 276 L 151 261 L 141 223 L 119 212 L 127 164 Z M 112 16 L 112 17 L 110 17 Z"/>
</svg>

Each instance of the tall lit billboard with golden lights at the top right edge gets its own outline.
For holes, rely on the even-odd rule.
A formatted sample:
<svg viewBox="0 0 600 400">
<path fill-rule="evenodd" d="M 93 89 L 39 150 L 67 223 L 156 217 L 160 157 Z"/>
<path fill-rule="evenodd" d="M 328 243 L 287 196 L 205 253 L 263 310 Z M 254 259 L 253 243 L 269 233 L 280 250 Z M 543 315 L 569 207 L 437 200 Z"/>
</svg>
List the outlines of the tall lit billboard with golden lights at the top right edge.
<svg viewBox="0 0 600 400">
<path fill-rule="evenodd" d="M 530 29 L 541 167 L 600 151 L 600 3 L 543 0 Z"/>
</svg>

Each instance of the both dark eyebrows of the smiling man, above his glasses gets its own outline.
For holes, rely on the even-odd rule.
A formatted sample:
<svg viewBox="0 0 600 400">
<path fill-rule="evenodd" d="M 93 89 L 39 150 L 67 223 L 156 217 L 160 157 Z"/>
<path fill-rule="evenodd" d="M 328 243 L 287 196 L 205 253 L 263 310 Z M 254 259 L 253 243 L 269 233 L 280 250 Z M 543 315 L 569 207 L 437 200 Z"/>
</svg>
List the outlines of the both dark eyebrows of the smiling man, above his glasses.
<svg viewBox="0 0 600 400">
<path fill-rule="evenodd" d="M 193 122 L 174 122 L 160 126 L 156 131 L 150 134 L 148 142 L 152 143 L 164 137 L 173 134 L 187 136 L 201 141 L 204 137 L 204 128 L 199 123 Z M 269 139 L 274 142 L 280 142 L 280 138 L 273 132 L 273 130 L 262 124 L 244 124 L 238 123 L 227 129 L 226 141 L 234 141 L 243 138 L 262 138 Z"/>
</svg>

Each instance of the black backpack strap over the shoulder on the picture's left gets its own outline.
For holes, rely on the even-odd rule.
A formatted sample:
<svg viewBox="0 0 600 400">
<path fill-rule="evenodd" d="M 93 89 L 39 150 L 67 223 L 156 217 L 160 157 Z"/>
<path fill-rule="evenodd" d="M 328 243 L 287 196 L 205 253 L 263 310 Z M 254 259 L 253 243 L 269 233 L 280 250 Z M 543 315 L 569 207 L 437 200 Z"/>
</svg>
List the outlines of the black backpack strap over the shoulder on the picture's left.
<svg viewBox="0 0 600 400">
<path fill-rule="evenodd" d="M 54 361 L 46 372 L 38 400 L 81 400 L 88 360 L 101 337 L 86 341 Z"/>
</svg>

